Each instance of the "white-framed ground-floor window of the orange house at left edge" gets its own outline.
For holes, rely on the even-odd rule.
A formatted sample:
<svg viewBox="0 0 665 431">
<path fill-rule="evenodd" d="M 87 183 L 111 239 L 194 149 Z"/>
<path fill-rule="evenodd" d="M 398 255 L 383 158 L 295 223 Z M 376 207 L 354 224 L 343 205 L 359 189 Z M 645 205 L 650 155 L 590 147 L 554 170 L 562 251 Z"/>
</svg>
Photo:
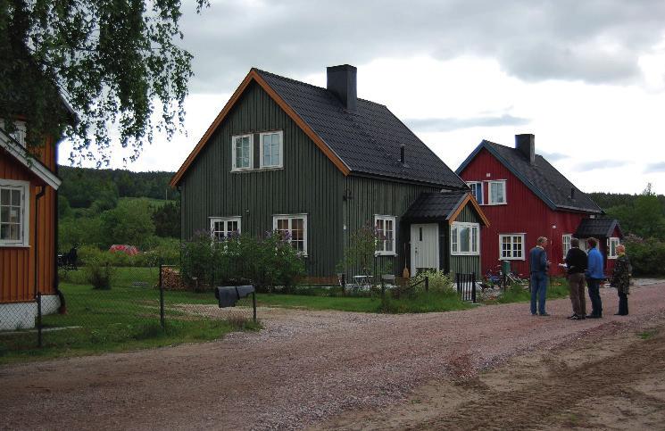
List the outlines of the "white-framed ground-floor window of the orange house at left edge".
<svg viewBox="0 0 665 431">
<path fill-rule="evenodd" d="M 0 246 L 29 246 L 29 182 L 0 179 Z"/>
</svg>

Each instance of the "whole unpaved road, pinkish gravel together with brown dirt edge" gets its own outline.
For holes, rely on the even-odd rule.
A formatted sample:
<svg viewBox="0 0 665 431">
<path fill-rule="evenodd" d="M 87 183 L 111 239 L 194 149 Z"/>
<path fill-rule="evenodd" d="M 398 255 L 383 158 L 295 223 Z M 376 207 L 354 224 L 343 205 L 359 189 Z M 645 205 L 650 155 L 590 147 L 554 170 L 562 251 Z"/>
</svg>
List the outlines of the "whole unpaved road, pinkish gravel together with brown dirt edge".
<svg viewBox="0 0 665 431">
<path fill-rule="evenodd" d="M 260 334 L 4 367 L 0 428 L 657 427 L 665 285 L 635 288 L 628 317 L 602 294 L 604 319 L 565 319 L 568 300 L 549 318 L 272 311 Z"/>
</svg>

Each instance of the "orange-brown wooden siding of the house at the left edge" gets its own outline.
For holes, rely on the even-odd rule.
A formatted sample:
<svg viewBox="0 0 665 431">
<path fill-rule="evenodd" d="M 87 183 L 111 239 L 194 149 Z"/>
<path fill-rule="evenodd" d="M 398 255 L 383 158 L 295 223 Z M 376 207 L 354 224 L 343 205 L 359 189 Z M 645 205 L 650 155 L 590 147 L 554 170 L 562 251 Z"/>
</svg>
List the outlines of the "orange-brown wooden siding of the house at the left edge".
<svg viewBox="0 0 665 431">
<path fill-rule="evenodd" d="M 54 169 L 55 150 L 46 145 L 41 150 L 41 160 Z M 32 172 L 16 162 L 12 156 L 0 150 L 0 178 L 29 181 L 29 247 L 0 247 L 0 303 L 33 301 L 35 264 L 35 196 L 44 183 Z M 46 194 L 39 199 L 39 237 L 37 280 L 43 294 L 55 293 L 55 215 L 56 191 L 46 186 Z"/>
</svg>

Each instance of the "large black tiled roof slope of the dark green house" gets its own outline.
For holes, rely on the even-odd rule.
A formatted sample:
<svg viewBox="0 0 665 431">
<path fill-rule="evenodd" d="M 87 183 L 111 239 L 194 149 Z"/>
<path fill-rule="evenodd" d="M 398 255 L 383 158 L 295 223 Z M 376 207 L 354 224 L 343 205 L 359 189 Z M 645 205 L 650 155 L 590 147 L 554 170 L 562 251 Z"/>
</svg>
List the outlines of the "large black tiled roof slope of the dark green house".
<svg viewBox="0 0 665 431">
<path fill-rule="evenodd" d="M 386 106 L 358 99 L 357 110 L 348 112 L 326 88 L 264 70 L 256 72 L 352 173 L 467 189 L 464 181 Z M 405 149 L 404 164 L 400 162 L 401 145 Z"/>
</svg>

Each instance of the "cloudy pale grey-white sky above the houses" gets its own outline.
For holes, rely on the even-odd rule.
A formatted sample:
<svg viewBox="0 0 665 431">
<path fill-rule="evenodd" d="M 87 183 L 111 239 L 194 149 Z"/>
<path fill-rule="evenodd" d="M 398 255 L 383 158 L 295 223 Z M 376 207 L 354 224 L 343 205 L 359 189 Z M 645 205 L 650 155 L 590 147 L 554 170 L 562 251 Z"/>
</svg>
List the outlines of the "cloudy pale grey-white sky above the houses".
<svg viewBox="0 0 665 431">
<path fill-rule="evenodd" d="M 349 63 L 359 97 L 453 170 L 482 139 L 533 133 L 583 191 L 665 193 L 662 0 L 211 3 L 183 6 L 187 137 L 155 140 L 130 170 L 178 170 L 252 67 L 325 87 L 326 66 Z"/>
</svg>

